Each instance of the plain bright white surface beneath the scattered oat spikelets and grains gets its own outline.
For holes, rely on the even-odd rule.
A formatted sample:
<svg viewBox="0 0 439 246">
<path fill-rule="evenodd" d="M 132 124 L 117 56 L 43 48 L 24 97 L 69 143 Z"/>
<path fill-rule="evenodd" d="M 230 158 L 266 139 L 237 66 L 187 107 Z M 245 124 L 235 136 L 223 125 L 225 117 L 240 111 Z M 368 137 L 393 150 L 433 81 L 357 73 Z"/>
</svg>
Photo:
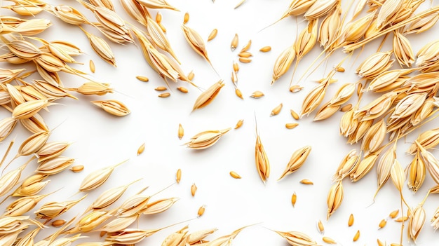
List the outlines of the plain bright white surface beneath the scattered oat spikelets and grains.
<svg viewBox="0 0 439 246">
<path fill-rule="evenodd" d="M 218 228 L 219 231 L 210 236 L 212 240 L 231 233 L 241 226 L 255 223 L 259 224 L 245 229 L 238 235 L 234 245 L 287 245 L 283 238 L 267 228 L 278 231 L 301 231 L 318 243 L 324 244 L 321 240 L 322 235 L 316 230 L 318 219 L 321 219 L 325 225 L 325 235 L 337 240 L 340 245 L 352 245 L 352 238 L 357 230 L 360 230 L 361 235 L 355 245 L 375 245 L 377 238 L 388 243 L 399 242 L 400 223 L 389 220 L 386 227 L 378 230 L 381 219 L 386 219 L 391 211 L 400 209 L 398 191 L 390 180 L 379 191 L 376 202 L 367 207 L 372 203 L 372 196 L 377 189 L 375 169 L 360 182 L 351 183 L 348 179 L 344 180 L 343 203 L 330 220 L 326 221 L 326 196 L 332 185 L 331 177 L 346 153 L 351 149 L 359 149 L 358 145 L 346 144 L 346 139 L 339 135 L 339 119 L 342 113 L 337 112 L 332 118 L 321 122 L 312 121 L 315 114 L 313 113 L 309 117 L 300 119 L 297 128 L 293 130 L 285 128 L 285 123 L 295 122 L 290 115 L 290 109 L 300 111 L 306 93 L 317 85 L 314 81 L 324 78 L 330 68 L 342 60 L 344 54 L 336 53 L 327 64 L 320 66 L 309 78 L 302 81 L 304 90 L 292 94 L 288 91 L 292 71 L 276 81 L 273 86 L 270 86 L 270 82 L 276 57 L 290 46 L 297 36 L 295 18 L 287 18 L 259 32 L 283 14 L 288 8 L 288 1 L 247 0 L 237 9 L 234 9 L 234 6 L 238 1 L 217 0 L 212 3 L 210 0 L 170 0 L 169 3 L 179 8 L 180 12 L 161 10 L 162 23 L 168 29 L 167 36 L 171 46 L 182 61 L 182 69 L 187 73 L 194 70 L 194 83 L 201 88 L 208 88 L 220 78 L 224 79 L 225 83 L 217 98 L 208 107 L 192 113 L 192 106 L 201 92 L 187 83 L 178 82 L 171 84 L 170 97 L 157 97 L 159 93 L 154 88 L 165 86 L 165 83 L 145 62 L 139 47 L 132 44 L 120 46 L 111 43 L 116 55 L 117 68 L 114 68 L 93 53 L 86 36 L 79 28 L 62 23 L 48 13 L 37 15 L 37 18 L 50 18 L 54 22 L 53 27 L 41 34 L 41 37 L 48 40 L 67 40 L 79 46 L 85 54 L 77 57 L 77 60 L 84 65 L 74 65 L 74 67 L 88 71 L 88 60 L 92 59 L 96 64 L 96 73 L 91 74 L 90 78 L 111 83 L 116 92 L 104 97 L 76 95 L 79 97 L 78 101 L 69 98 L 60 100 L 61 105 L 49 107 L 50 112 L 41 113 L 51 129 L 58 126 L 53 130 L 50 141 L 72 142 L 72 146 L 63 155 L 75 158 L 74 165 L 85 165 L 86 168 L 78 174 L 67 170 L 50 177 L 51 182 L 42 193 L 62 189 L 42 200 L 36 209 L 43 203 L 80 198 L 81 194 L 75 196 L 72 194 L 76 193 L 79 184 L 88 173 L 129 158 L 127 163 L 114 170 L 107 183 L 90 192 L 86 200 L 63 214 L 61 218 L 68 220 L 81 214 L 102 191 L 127 184 L 135 179 L 142 178 L 140 182 L 130 186 L 116 205 L 120 205 L 123 200 L 137 193 L 144 186 L 149 186 L 145 193 L 156 193 L 173 184 L 175 172 L 181 168 L 180 184 L 174 184 L 151 198 L 156 200 L 177 197 L 180 200 L 163 214 L 142 217 L 139 228 L 161 228 L 192 219 L 196 217 L 198 207 L 201 205 L 206 205 L 205 214 L 199 219 L 158 232 L 139 245 L 160 245 L 166 235 L 177 231 L 185 224 L 189 224 L 190 231 Z M 93 20 L 93 15 L 74 1 L 53 1 L 53 4 L 71 4 Z M 116 12 L 125 20 L 134 22 L 123 12 L 119 2 L 115 2 L 114 5 Z M 423 7 L 428 8 L 429 3 L 425 3 Z M 187 25 L 195 29 L 205 40 L 212 29 L 218 29 L 216 39 L 206 43 L 206 47 L 220 78 L 202 57 L 191 50 L 184 39 L 180 25 L 185 12 L 190 13 Z M 1 13 L 11 15 L 11 12 L 6 10 L 2 10 Z M 156 11 L 151 11 L 151 15 L 155 17 Z M 306 25 L 302 20 L 302 17 L 297 18 L 299 30 Z M 97 34 L 91 27 L 86 29 Z M 437 39 L 438 31 L 438 27 L 435 27 L 424 34 L 408 36 L 414 52 L 416 53 L 428 41 Z M 231 52 L 230 42 L 235 33 L 239 36 L 239 45 L 234 52 Z M 238 60 L 239 50 L 249 39 L 252 40 L 249 51 L 254 56 L 251 63 L 240 63 L 238 87 L 245 97 L 241 100 L 236 97 L 234 86 L 230 81 L 231 66 L 234 60 Z M 391 48 L 390 41 L 391 39 L 386 41 L 382 50 Z M 260 53 L 259 48 L 263 46 L 271 46 L 272 50 L 269 53 Z M 345 62 L 346 72 L 335 75 L 339 81 L 330 86 L 324 102 L 327 102 L 343 83 L 354 83 L 358 79 L 354 73 L 356 67 L 367 55 L 376 51 L 378 46 L 379 42 L 372 42 L 366 46 L 358 60 L 356 60 L 358 55 L 356 51 L 353 57 Z M 295 78 L 299 78 L 304 73 L 321 50 L 316 46 L 304 57 L 299 63 Z M 2 64 L 2 67 L 4 66 L 6 64 Z M 138 81 L 135 78 L 137 75 L 149 77 L 149 82 Z M 82 78 L 71 75 L 63 75 L 62 81 L 70 88 L 85 82 Z M 189 93 L 180 93 L 176 90 L 177 86 L 189 88 Z M 250 98 L 255 90 L 261 90 L 265 96 L 257 100 Z M 88 102 L 103 99 L 121 100 L 132 113 L 117 118 Z M 356 99 L 354 95 L 351 101 L 355 103 Z M 369 102 L 368 100 L 363 102 Z M 283 103 L 281 114 L 270 117 L 271 109 L 280 103 Z M 7 116 L 6 113 L 5 111 L 4 116 Z M 271 175 L 265 185 L 255 169 L 255 116 L 262 143 L 271 163 Z M 238 130 L 231 130 L 210 149 L 194 151 L 184 146 L 184 143 L 198 132 L 233 128 L 240 119 L 244 120 L 243 126 Z M 179 123 L 183 125 L 185 132 L 182 140 L 177 138 Z M 435 121 L 425 125 L 422 130 L 437 125 L 438 121 Z M 406 140 L 400 139 L 398 142 L 398 160 L 403 167 L 411 160 L 404 151 L 417 134 L 419 131 L 414 132 Z M 28 136 L 28 132 L 18 125 L 10 137 L 1 144 L 0 153 L 3 153 L 8 142 L 16 137 L 17 144 L 11 152 L 15 154 L 22 140 Z M 145 151 L 142 155 L 136 156 L 137 148 L 143 142 L 146 143 Z M 285 177 L 281 182 L 276 182 L 290 160 L 291 154 L 305 145 L 312 146 L 312 151 L 304 166 L 295 174 Z M 438 151 L 435 150 L 433 153 L 438 156 Z M 25 160 L 27 158 L 19 158 L 8 170 L 17 168 Z M 30 175 L 34 168 L 36 168 L 35 163 L 29 165 L 22 177 Z M 243 178 L 231 178 L 229 176 L 231 170 L 238 172 Z M 311 179 L 314 185 L 299 184 L 299 180 L 305 178 Z M 195 197 L 192 197 L 190 187 L 194 183 L 198 186 L 198 191 Z M 434 182 L 428 175 L 426 182 L 415 195 L 405 186 L 403 191 L 405 199 L 412 207 L 416 207 L 433 185 Z M 292 207 L 290 199 L 294 192 L 297 193 L 297 203 Z M 1 207 L 6 207 L 6 204 L 11 202 L 12 199 L 8 199 Z M 438 205 L 437 195 L 431 195 L 426 201 L 424 208 L 427 220 L 419 235 L 418 245 L 433 245 L 434 242 L 439 242 L 429 223 Z M 405 208 L 404 211 L 406 212 L 407 209 Z M 348 227 L 347 221 L 351 213 L 355 217 L 355 223 L 352 227 Z M 404 244 L 409 245 L 406 228 Z M 53 231 L 53 228 L 48 228 L 42 234 L 49 235 Z M 90 235 L 91 239 L 81 242 L 98 240 L 97 234 L 87 233 L 86 235 Z M 41 239 L 40 235 L 39 238 Z"/>
</svg>

